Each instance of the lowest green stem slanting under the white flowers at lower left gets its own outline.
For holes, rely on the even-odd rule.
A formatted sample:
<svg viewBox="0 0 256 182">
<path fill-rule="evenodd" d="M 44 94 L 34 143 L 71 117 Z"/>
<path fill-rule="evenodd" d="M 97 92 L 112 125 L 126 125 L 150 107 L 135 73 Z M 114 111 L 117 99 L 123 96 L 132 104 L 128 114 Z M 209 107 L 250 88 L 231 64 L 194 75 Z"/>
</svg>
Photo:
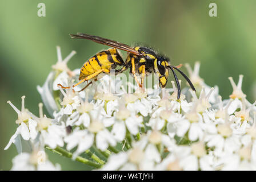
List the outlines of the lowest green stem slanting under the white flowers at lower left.
<svg viewBox="0 0 256 182">
<path fill-rule="evenodd" d="M 66 151 L 65 149 L 61 148 L 61 147 L 56 147 L 55 149 L 50 148 L 48 146 L 45 146 L 46 149 L 59 154 L 61 156 L 65 156 L 66 158 L 72 158 L 73 154 L 71 152 Z M 81 162 L 83 164 L 87 164 L 89 166 L 95 167 L 95 168 L 101 168 L 102 164 L 97 164 L 94 162 L 91 162 L 88 159 L 82 158 L 81 156 L 77 156 L 77 158 L 75 158 L 75 160 L 77 160 L 78 162 Z"/>
</svg>

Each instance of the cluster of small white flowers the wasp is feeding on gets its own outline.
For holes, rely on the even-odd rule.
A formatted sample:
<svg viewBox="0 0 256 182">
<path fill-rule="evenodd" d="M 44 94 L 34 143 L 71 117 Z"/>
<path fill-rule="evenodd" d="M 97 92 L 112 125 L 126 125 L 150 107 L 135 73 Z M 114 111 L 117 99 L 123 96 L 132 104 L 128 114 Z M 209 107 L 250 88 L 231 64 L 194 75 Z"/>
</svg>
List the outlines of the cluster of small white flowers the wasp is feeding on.
<svg viewBox="0 0 256 182">
<path fill-rule="evenodd" d="M 57 86 L 72 88 L 77 81 L 79 69 L 67 67 L 75 52 L 64 60 L 59 47 L 57 53 L 53 71 L 38 86 L 52 118 L 43 115 L 42 104 L 39 117 L 25 109 L 25 96 L 21 110 L 8 101 L 18 114 L 18 128 L 5 148 L 14 143 L 19 152 L 12 169 L 60 169 L 47 160 L 45 148 L 102 170 L 256 169 L 255 103 L 242 92 L 242 75 L 237 85 L 229 78 L 233 93 L 223 101 L 218 87 L 199 77 L 199 63 L 194 71 L 186 65 L 197 93 L 185 88 L 179 100 L 173 81 L 173 89 L 117 94 L 93 82 L 78 92 L 79 86 Z M 115 85 L 108 75 L 98 82 Z"/>
</svg>

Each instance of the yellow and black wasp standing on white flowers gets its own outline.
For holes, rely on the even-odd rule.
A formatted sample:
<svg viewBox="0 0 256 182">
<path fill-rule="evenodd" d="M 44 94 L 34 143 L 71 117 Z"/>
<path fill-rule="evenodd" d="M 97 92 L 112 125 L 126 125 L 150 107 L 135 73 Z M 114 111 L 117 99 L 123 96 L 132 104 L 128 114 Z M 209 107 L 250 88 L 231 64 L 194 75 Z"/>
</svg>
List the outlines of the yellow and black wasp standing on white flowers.
<svg viewBox="0 0 256 182">
<path fill-rule="evenodd" d="M 174 72 L 174 69 L 177 70 L 181 75 L 187 80 L 191 89 L 195 91 L 194 85 L 189 80 L 189 78 L 183 73 L 179 67 L 174 67 L 170 65 L 170 60 L 162 55 L 159 55 L 156 51 L 148 47 L 130 47 L 126 44 L 119 43 L 114 40 L 101 38 L 99 36 L 88 35 L 88 34 L 70 34 L 72 39 L 87 39 L 92 40 L 93 42 L 104 44 L 106 46 L 110 46 L 112 48 L 107 49 L 105 51 L 98 52 L 96 55 L 91 57 L 89 60 L 83 64 L 79 75 L 79 82 L 73 87 L 81 84 L 82 82 L 89 81 L 91 79 L 97 80 L 97 76 L 100 73 L 110 73 L 110 69 L 115 69 L 117 66 L 121 66 L 121 69 L 115 69 L 115 74 L 122 73 L 126 69 L 130 69 L 130 73 L 133 74 L 135 81 L 138 86 L 142 88 L 144 78 L 149 73 L 156 73 L 159 77 L 159 84 L 161 84 L 162 88 L 165 88 L 167 84 L 167 78 L 169 76 L 169 69 L 173 72 L 173 76 L 177 85 L 178 96 L 177 100 L 181 96 L 181 86 L 179 85 L 179 80 Z M 128 56 L 125 61 L 123 61 L 118 49 L 128 52 Z M 139 82 L 136 73 L 141 75 L 141 82 Z M 90 85 L 92 82 L 87 84 L 85 88 Z M 59 84 L 62 88 L 70 88 L 64 87 Z M 84 90 L 83 88 L 82 90 Z M 82 91 L 80 90 L 80 91 Z"/>
</svg>

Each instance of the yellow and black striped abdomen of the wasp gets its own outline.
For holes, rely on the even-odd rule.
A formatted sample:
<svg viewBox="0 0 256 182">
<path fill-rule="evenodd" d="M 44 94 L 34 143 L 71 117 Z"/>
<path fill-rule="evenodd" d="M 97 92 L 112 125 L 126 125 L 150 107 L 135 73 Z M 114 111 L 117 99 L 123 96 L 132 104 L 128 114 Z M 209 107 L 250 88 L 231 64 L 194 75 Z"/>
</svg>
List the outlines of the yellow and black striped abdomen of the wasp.
<svg viewBox="0 0 256 182">
<path fill-rule="evenodd" d="M 100 71 L 101 69 L 114 69 L 117 65 L 124 65 L 122 57 L 115 48 L 110 48 L 105 51 L 98 52 L 83 64 L 80 71 L 79 80 Z"/>
</svg>

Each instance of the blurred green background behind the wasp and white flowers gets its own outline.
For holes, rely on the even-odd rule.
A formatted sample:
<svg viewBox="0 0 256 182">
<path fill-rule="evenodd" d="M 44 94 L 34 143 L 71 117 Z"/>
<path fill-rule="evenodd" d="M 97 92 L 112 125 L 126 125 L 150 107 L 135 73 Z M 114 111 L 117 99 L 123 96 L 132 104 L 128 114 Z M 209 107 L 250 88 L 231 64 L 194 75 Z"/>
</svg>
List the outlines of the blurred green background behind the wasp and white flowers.
<svg viewBox="0 0 256 182">
<path fill-rule="evenodd" d="M 37 16 L 38 3 L 45 3 L 46 17 Z M 209 4 L 217 3 L 218 17 L 209 16 Z M 72 50 L 77 55 L 71 69 L 105 46 L 71 40 L 69 33 L 85 32 L 126 44 L 142 42 L 169 55 L 172 64 L 201 61 L 200 75 L 207 85 L 219 86 L 223 98 L 232 92 L 227 77 L 243 74 L 247 99 L 255 98 L 256 23 L 255 0 L 247 1 L 0 1 L 0 169 L 9 170 L 17 155 L 15 146 L 4 151 L 17 124 L 17 114 L 6 104 L 11 100 L 21 108 L 21 96 L 33 113 L 41 98 L 42 85 L 57 61 L 56 46 L 62 56 Z M 185 68 L 182 68 L 186 72 Z M 170 83 L 170 82 L 169 82 Z M 46 111 L 45 111 L 46 112 Z M 86 166 L 49 154 L 62 169 Z"/>
</svg>

